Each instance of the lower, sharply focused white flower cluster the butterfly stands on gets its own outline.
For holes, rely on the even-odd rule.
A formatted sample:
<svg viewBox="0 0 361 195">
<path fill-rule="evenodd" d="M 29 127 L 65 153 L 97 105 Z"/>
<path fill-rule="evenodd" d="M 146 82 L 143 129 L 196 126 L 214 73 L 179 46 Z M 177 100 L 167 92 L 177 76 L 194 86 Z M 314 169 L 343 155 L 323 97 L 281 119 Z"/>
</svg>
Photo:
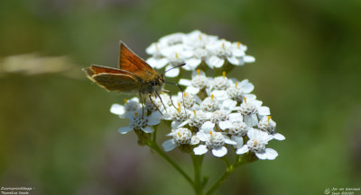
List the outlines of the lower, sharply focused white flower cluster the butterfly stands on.
<svg viewBox="0 0 361 195">
<path fill-rule="evenodd" d="M 172 138 L 162 144 L 165 151 L 194 145 L 195 155 L 211 150 L 213 155 L 221 157 L 227 155 L 227 145 L 230 145 L 237 155 L 250 151 L 259 159 L 268 160 L 278 155 L 266 145 L 272 139 L 284 137 L 275 132 L 276 123 L 271 119 L 270 109 L 251 94 L 254 85 L 248 80 L 239 82 L 228 79 L 225 74 L 211 78 L 198 70 L 193 72 L 191 80 L 182 79 L 180 84 L 187 86 L 185 93 L 172 97 L 161 94 L 165 108 L 159 98 L 153 98 L 153 103 L 146 102 L 147 116 L 142 117 L 142 105 L 137 98 L 125 101 L 124 106 L 114 104 L 111 112 L 130 120 L 130 125 L 119 132 L 142 129 L 152 133 L 153 125 L 171 120 L 168 136 Z M 205 98 L 202 100 L 199 96 Z M 244 140 L 247 140 L 245 144 Z"/>
</svg>

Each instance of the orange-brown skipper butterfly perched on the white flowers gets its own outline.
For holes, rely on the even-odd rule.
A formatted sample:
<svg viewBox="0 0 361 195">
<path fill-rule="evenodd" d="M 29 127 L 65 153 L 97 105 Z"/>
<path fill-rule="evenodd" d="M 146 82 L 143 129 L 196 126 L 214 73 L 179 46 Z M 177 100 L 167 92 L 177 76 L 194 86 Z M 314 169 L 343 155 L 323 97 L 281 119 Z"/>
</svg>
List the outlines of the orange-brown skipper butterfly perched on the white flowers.
<svg viewBox="0 0 361 195">
<path fill-rule="evenodd" d="M 185 64 L 180 66 L 183 65 Z M 171 93 L 170 91 L 164 90 L 164 84 L 168 82 L 165 82 L 163 74 L 159 74 L 152 66 L 149 66 L 142 58 L 134 54 L 122 41 L 120 41 L 118 68 L 92 65 L 83 70 L 90 80 L 105 88 L 107 91 L 139 93 L 142 105 L 147 97 L 153 102 L 151 98 L 153 95 L 159 97 L 162 102 L 159 93 Z M 178 84 L 176 85 L 179 86 Z M 181 88 L 180 90 L 182 91 Z M 159 111 L 158 107 L 157 109 Z"/>
</svg>

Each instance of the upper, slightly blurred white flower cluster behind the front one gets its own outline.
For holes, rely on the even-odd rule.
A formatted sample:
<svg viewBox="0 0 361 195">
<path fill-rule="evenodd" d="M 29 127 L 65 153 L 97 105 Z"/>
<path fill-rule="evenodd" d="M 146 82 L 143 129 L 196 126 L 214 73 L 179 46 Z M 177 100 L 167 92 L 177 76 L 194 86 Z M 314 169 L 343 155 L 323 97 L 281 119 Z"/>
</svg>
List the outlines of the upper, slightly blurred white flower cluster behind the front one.
<svg viewBox="0 0 361 195">
<path fill-rule="evenodd" d="M 235 66 L 255 62 L 255 58 L 245 55 L 247 47 L 240 42 L 230 42 L 218 39 L 217 36 L 207 35 L 201 31 L 190 33 L 173 33 L 162 37 L 146 49 L 151 55 L 146 62 L 153 68 L 170 69 L 186 63 L 182 68 L 196 70 L 203 62 L 210 68 L 218 68 L 229 62 Z M 165 73 L 167 77 L 180 74 L 180 69 Z"/>
</svg>

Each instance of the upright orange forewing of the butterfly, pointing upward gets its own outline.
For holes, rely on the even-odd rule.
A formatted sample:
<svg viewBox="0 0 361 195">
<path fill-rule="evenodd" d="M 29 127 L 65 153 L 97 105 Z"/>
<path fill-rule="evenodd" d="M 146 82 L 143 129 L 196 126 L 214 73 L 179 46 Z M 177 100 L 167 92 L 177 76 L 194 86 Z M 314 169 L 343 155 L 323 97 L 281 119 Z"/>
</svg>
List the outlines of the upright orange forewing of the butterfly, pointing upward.
<svg viewBox="0 0 361 195">
<path fill-rule="evenodd" d="M 149 81 L 154 75 L 159 75 L 152 66 L 149 66 L 142 58 L 135 55 L 122 41 L 120 42 L 118 67 L 119 69 L 138 75 L 144 81 Z"/>
</svg>

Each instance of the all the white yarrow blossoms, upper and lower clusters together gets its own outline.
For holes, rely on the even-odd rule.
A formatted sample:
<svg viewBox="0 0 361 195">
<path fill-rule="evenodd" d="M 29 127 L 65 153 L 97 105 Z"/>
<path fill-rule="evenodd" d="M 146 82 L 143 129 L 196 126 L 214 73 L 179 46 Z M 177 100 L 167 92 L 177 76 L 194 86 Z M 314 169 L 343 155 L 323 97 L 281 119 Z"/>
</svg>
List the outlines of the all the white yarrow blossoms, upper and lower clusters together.
<svg viewBox="0 0 361 195">
<path fill-rule="evenodd" d="M 255 86 L 247 79 L 227 78 L 226 72 L 208 77 L 195 70 L 202 61 L 211 68 L 223 66 L 225 60 L 234 65 L 255 61 L 245 56 L 245 49 L 240 43 L 218 40 L 200 31 L 171 34 L 153 43 L 147 49 L 153 55 L 148 63 L 162 68 L 186 62 L 183 67 L 193 70 L 191 79 L 180 79 L 179 84 L 186 86 L 184 93 L 173 96 L 162 93 L 145 105 L 136 97 L 125 100 L 125 105 L 113 104 L 112 113 L 130 120 L 129 126 L 119 132 L 125 134 L 134 129 L 153 133 L 153 126 L 161 120 L 171 120 L 168 134 L 171 139 L 162 144 L 165 151 L 181 146 L 192 149 L 195 155 L 211 151 L 222 157 L 230 150 L 236 155 L 250 152 L 259 159 L 273 160 L 278 154 L 266 145 L 270 140 L 285 137 L 276 133 L 270 109 L 252 94 Z"/>
</svg>

